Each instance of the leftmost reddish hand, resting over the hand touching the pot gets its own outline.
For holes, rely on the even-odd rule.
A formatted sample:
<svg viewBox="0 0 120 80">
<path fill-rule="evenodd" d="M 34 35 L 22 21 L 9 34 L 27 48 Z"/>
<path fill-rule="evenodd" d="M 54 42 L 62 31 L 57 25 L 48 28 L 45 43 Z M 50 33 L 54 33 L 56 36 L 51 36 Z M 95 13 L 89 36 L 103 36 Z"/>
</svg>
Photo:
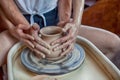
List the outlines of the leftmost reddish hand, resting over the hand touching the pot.
<svg viewBox="0 0 120 80">
<path fill-rule="evenodd" d="M 30 26 L 19 24 L 18 26 L 10 28 L 9 32 L 12 36 L 26 44 L 29 48 L 34 48 L 34 45 L 31 42 L 34 40 L 34 37 L 29 34 L 29 29 Z"/>
</svg>

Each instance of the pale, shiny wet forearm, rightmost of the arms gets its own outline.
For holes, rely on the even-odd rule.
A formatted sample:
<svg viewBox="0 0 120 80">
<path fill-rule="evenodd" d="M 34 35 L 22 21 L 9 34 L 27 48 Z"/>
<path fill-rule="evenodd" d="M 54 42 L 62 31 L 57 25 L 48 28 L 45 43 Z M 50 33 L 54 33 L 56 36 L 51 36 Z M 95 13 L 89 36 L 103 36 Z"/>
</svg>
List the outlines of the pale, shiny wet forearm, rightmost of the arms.
<svg viewBox="0 0 120 80">
<path fill-rule="evenodd" d="M 73 0 L 73 22 L 76 25 L 81 24 L 83 9 L 84 0 Z"/>
</svg>

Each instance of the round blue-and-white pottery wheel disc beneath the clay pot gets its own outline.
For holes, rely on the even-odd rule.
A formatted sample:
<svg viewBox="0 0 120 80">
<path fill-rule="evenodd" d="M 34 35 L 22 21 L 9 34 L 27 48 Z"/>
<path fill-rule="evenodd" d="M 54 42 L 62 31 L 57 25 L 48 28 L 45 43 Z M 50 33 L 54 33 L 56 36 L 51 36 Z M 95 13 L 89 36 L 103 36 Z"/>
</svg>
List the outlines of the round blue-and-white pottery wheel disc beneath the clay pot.
<svg viewBox="0 0 120 80">
<path fill-rule="evenodd" d="M 34 55 L 28 48 L 21 53 L 21 62 L 27 69 L 37 74 L 59 75 L 79 68 L 85 59 L 85 52 L 80 45 L 75 44 L 74 50 L 69 55 L 57 61 L 32 57 Z"/>
</svg>

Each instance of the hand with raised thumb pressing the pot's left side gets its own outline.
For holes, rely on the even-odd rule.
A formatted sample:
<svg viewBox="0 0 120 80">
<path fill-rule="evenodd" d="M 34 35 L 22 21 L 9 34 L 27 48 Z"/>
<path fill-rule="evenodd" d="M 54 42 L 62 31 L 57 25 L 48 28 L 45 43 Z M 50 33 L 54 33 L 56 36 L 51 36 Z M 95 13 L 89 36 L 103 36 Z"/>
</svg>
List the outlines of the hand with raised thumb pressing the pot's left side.
<svg viewBox="0 0 120 80">
<path fill-rule="evenodd" d="M 35 55 L 37 57 L 45 58 L 46 54 L 50 54 L 50 45 L 47 44 L 45 41 L 43 41 L 39 36 L 39 30 L 40 27 L 37 24 L 33 24 L 33 26 L 30 29 L 31 35 L 34 37 L 34 49 L 32 49 L 35 52 Z"/>
</svg>

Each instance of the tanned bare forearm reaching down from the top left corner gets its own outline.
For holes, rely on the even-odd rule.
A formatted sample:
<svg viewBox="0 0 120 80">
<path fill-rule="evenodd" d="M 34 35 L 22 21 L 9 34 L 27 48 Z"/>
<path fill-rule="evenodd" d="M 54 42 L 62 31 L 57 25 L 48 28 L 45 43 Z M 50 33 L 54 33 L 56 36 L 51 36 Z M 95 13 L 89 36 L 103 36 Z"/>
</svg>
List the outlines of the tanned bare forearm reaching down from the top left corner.
<svg viewBox="0 0 120 80">
<path fill-rule="evenodd" d="M 29 25 L 28 21 L 21 14 L 13 0 L 0 0 L 0 7 L 6 17 L 16 26 L 18 24 Z"/>
</svg>

